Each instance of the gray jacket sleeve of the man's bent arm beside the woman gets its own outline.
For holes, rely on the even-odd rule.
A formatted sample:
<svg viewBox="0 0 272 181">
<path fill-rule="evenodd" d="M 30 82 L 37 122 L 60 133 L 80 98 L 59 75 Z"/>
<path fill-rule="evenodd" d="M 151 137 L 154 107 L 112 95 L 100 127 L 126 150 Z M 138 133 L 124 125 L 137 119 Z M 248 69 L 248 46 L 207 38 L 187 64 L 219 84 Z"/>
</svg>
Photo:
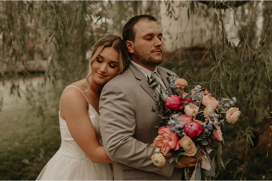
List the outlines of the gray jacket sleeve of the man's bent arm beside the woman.
<svg viewBox="0 0 272 181">
<path fill-rule="evenodd" d="M 171 177 L 174 164 L 169 164 L 169 158 L 166 158 L 163 167 L 155 166 L 151 161 L 155 149 L 134 138 L 135 109 L 131 97 L 123 87 L 112 82 L 104 86 L 100 96 L 99 113 L 103 146 L 110 159 L 140 170 Z"/>
</svg>

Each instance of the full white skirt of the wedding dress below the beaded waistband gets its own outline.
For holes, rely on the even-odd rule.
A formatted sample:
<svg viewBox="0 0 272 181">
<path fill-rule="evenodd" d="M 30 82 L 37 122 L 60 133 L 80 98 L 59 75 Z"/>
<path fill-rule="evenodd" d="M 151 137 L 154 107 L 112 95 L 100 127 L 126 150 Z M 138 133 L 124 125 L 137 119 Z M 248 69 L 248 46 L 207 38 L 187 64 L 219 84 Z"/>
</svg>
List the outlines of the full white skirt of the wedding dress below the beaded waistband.
<svg viewBox="0 0 272 181">
<path fill-rule="evenodd" d="M 36 180 L 113 180 L 113 173 L 111 164 L 96 164 L 86 157 L 66 155 L 60 148 Z"/>
</svg>

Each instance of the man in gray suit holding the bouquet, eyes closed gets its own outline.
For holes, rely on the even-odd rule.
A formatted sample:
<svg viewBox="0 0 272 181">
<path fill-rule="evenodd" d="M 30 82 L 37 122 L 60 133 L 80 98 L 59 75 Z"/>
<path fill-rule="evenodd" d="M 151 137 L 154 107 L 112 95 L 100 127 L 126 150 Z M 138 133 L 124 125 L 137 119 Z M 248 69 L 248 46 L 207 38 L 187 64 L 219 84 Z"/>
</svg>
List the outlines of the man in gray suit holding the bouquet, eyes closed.
<svg viewBox="0 0 272 181">
<path fill-rule="evenodd" d="M 169 163 L 155 166 L 151 147 L 158 135 L 156 125 L 161 118 L 151 111 L 156 100 L 149 88 L 147 76 L 156 73 L 161 87 L 169 87 L 162 62 L 162 33 L 156 19 L 150 15 L 132 17 L 123 28 L 123 40 L 130 55 L 130 64 L 103 88 L 99 102 L 99 124 L 103 146 L 113 164 L 115 180 L 181 180 L 180 168 L 194 167 L 200 161 L 180 156 L 181 165 Z M 156 90 L 157 91 L 157 90 Z"/>
</svg>

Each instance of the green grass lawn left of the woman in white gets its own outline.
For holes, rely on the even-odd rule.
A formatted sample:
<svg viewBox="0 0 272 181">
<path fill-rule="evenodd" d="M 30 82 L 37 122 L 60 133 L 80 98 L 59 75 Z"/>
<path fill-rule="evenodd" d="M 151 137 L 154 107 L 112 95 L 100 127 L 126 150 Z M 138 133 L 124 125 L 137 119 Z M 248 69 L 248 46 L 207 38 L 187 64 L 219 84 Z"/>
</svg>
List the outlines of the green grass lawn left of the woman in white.
<svg viewBox="0 0 272 181">
<path fill-rule="evenodd" d="M 54 92 L 44 95 L 48 104 L 43 118 L 24 96 L 10 97 L 7 92 L 0 112 L 0 180 L 35 180 L 60 147 L 59 100 Z"/>
</svg>

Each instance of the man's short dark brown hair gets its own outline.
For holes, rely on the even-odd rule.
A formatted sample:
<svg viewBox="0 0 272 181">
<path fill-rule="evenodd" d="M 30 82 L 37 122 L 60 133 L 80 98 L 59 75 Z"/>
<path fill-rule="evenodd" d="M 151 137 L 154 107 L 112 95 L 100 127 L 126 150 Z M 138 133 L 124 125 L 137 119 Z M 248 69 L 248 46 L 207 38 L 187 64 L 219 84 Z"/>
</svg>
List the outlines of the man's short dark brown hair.
<svg viewBox="0 0 272 181">
<path fill-rule="evenodd" d="M 141 15 L 132 17 L 130 20 L 128 20 L 128 22 L 125 24 L 125 26 L 123 28 L 122 37 L 123 37 L 124 43 L 127 40 L 134 42 L 135 32 L 133 30 L 133 27 L 140 20 L 157 21 L 157 19 L 155 17 L 148 15 L 148 14 L 141 14 Z"/>
</svg>

